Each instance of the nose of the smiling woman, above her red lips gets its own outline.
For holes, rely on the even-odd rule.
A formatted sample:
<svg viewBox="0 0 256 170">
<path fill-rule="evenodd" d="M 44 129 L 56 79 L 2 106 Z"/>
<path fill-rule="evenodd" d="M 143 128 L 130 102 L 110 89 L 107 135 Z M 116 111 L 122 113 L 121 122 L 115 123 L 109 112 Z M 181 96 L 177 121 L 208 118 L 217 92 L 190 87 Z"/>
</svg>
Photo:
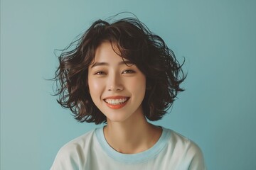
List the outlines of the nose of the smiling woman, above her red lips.
<svg viewBox="0 0 256 170">
<path fill-rule="evenodd" d="M 122 78 L 119 74 L 109 74 L 107 79 L 107 91 L 122 91 L 124 86 L 122 85 Z"/>
</svg>

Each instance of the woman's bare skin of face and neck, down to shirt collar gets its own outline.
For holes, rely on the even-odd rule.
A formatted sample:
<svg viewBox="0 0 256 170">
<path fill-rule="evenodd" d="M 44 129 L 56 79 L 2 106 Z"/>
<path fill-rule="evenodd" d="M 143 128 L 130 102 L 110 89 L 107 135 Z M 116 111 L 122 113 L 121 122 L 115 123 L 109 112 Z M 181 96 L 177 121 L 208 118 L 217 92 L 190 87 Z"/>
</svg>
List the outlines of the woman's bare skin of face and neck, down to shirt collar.
<svg viewBox="0 0 256 170">
<path fill-rule="evenodd" d="M 104 135 L 109 145 L 117 152 L 135 154 L 152 147 L 161 136 L 161 128 L 144 117 L 146 77 L 124 59 L 127 66 L 117 55 L 117 47 L 113 47 L 110 42 L 102 42 L 95 52 L 95 60 L 88 69 L 90 95 L 107 117 Z M 107 103 L 106 98 L 123 98 L 125 102 Z"/>
</svg>

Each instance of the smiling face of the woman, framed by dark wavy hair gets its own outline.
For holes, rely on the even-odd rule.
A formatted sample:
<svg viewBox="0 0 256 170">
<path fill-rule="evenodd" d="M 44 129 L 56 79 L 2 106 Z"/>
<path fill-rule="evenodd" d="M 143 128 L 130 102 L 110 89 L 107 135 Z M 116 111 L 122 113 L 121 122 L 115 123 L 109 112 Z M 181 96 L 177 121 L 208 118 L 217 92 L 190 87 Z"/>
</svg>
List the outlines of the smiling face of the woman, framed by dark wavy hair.
<svg viewBox="0 0 256 170">
<path fill-rule="evenodd" d="M 114 50 L 119 52 L 117 47 Z M 123 122 L 143 115 L 146 77 L 114 50 L 110 42 L 102 42 L 97 48 L 95 61 L 88 69 L 88 84 L 92 101 L 107 121 Z"/>
</svg>

